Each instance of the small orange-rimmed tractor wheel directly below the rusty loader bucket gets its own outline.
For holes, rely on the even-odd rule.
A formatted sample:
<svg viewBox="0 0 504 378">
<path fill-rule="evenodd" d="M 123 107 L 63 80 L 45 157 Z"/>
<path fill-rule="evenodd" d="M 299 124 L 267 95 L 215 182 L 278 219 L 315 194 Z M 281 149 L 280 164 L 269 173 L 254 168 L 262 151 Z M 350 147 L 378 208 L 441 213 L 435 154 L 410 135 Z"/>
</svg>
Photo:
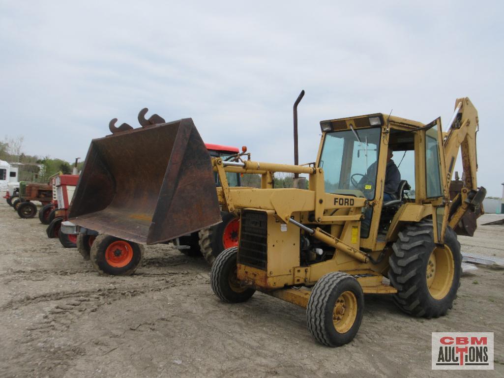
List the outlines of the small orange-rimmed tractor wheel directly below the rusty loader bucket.
<svg viewBox="0 0 504 378">
<path fill-rule="evenodd" d="M 140 266 L 143 255 L 143 245 L 101 234 L 94 240 L 89 258 L 101 275 L 131 276 Z"/>
</svg>

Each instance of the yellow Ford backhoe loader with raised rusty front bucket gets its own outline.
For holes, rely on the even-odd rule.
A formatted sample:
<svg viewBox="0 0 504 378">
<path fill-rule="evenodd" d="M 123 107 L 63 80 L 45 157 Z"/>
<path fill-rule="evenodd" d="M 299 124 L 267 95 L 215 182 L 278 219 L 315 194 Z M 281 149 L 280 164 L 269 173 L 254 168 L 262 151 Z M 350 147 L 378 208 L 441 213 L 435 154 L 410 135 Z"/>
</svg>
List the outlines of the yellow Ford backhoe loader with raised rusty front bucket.
<svg viewBox="0 0 504 378">
<path fill-rule="evenodd" d="M 320 127 L 317 159 L 304 165 L 210 159 L 190 118 L 94 140 L 70 220 L 152 244 L 219 222 L 220 208 L 239 214 L 238 247 L 212 266 L 215 294 L 242 302 L 259 290 L 303 306 L 328 346 L 354 338 L 365 293 L 393 295 L 415 317 L 445 315 L 460 283 L 457 233 L 472 236 L 486 192 L 476 183 L 476 109 L 457 99 L 446 133 L 439 118 L 383 113 Z M 459 151 L 463 179 L 451 185 Z M 391 153 L 402 180 L 386 196 Z M 260 174 L 262 187 L 231 187 L 226 172 Z M 308 190 L 275 188 L 275 172 L 307 175 Z"/>
</svg>

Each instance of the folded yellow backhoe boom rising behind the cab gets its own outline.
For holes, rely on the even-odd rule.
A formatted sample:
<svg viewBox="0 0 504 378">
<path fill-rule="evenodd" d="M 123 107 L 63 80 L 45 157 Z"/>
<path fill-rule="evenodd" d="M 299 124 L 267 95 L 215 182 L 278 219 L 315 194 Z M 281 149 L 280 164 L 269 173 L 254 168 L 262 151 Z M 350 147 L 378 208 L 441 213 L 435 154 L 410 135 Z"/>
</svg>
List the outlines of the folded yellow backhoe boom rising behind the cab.
<svg viewBox="0 0 504 378">
<path fill-rule="evenodd" d="M 459 98 L 455 102 L 455 112 L 444 133 L 445 163 L 447 179 L 450 182 L 459 150 L 462 156 L 462 181 L 451 181 L 449 225 L 462 235 L 472 236 L 476 229 L 476 219 L 483 213 L 481 203 L 486 196 L 484 187 L 478 188 L 476 172 L 476 134 L 478 132 L 478 112 L 469 98 Z"/>
</svg>

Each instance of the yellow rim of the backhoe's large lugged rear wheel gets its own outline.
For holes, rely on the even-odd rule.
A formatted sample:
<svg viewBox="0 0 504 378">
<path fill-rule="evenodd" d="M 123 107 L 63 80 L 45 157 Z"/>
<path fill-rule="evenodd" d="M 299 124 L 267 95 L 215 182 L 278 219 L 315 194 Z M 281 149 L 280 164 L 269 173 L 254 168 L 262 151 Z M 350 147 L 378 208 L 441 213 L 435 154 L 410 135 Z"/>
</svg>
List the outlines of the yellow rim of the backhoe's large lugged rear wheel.
<svg viewBox="0 0 504 378">
<path fill-rule="evenodd" d="M 436 246 L 427 261 L 426 278 L 429 293 L 434 299 L 443 299 L 450 291 L 455 274 L 452 250 Z"/>
</svg>

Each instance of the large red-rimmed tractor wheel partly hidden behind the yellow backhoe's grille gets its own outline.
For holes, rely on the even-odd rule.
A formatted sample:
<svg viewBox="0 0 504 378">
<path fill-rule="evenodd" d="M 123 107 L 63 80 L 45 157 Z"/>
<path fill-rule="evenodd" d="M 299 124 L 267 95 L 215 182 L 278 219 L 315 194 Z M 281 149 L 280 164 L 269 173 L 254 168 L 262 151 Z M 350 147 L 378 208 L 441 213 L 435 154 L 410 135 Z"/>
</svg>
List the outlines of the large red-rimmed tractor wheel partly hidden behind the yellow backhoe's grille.
<svg viewBox="0 0 504 378">
<path fill-rule="evenodd" d="M 199 232 L 201 254 L 210 265 L 224 249 L 238 246 L 239 218 L 224 212 L 221 217 L 221 223 Z"/>
</svg>

